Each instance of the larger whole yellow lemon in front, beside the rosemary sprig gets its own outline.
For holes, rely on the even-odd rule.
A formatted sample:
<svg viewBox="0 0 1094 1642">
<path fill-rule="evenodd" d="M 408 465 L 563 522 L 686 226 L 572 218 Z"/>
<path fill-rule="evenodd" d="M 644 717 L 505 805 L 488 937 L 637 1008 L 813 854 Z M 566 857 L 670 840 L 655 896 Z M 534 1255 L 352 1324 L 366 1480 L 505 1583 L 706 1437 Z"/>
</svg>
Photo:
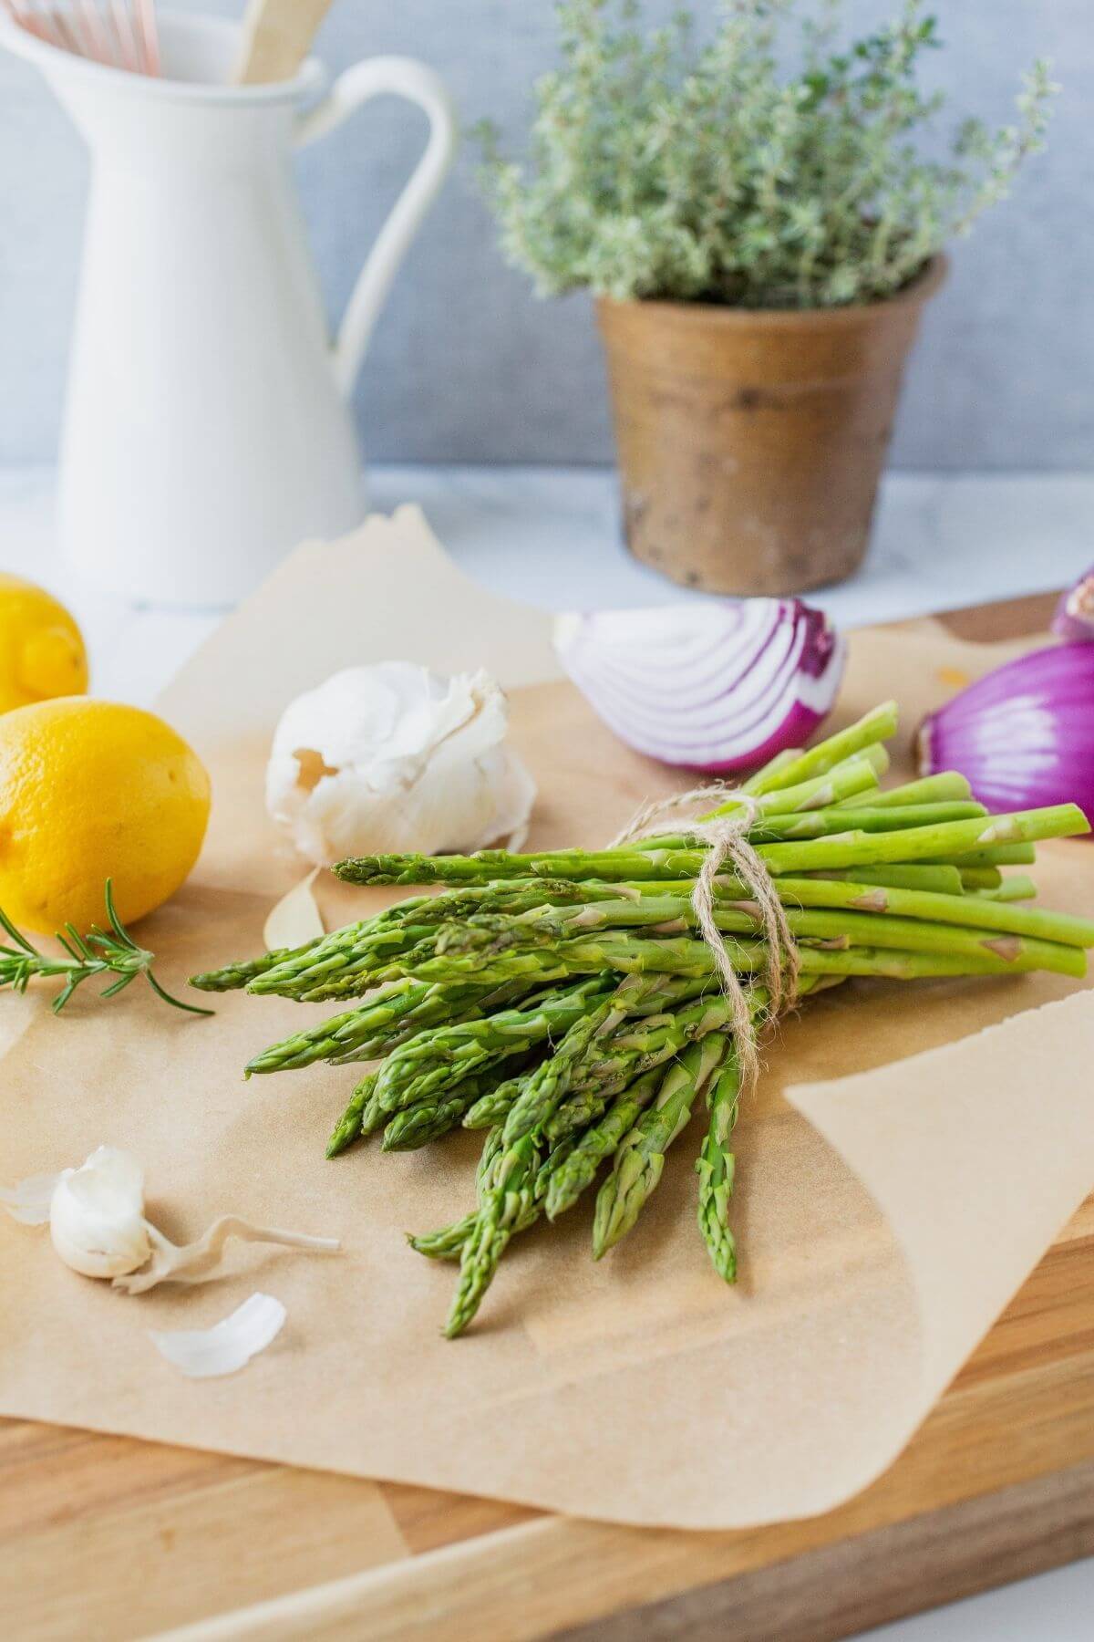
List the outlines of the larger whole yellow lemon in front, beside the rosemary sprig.
<svg viewBox="0 0 1094 1642">
<path fill-rule="evenodd" d="M 205 837 L 208 775 L 139 708 L 64 696 L 0 714 L 0 906 L 20 928 L 123 921 L 179 888 Z"/>
</svg>

